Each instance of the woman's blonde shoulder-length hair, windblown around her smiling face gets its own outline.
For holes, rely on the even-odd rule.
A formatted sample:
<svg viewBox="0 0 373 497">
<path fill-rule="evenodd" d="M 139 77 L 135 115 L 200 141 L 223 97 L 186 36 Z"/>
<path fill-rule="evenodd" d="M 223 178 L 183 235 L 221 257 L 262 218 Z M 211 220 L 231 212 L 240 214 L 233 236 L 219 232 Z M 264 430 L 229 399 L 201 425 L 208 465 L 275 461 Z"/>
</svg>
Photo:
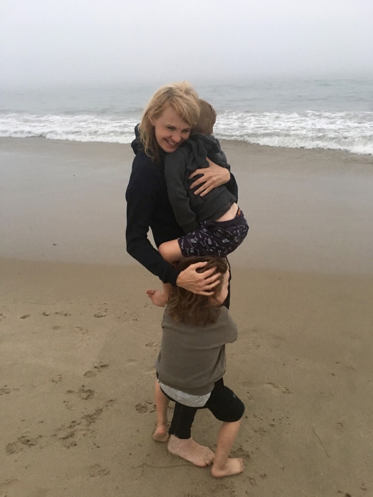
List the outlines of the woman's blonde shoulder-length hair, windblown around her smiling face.
<svg viewBox="0 0 373 497">
<path fill-rule="evenodd" d="M 195 126 L 199 118 L 198 95 L 190 83 L 182 81 L 161 86 L 145 107 L 139 126 L 145 153 L 155 162 L 160 160 L 162 149 L 158 145 L 151 120 L 158 119 L 167 107 L 172 107 L 190 127 Z"/>
</svg>

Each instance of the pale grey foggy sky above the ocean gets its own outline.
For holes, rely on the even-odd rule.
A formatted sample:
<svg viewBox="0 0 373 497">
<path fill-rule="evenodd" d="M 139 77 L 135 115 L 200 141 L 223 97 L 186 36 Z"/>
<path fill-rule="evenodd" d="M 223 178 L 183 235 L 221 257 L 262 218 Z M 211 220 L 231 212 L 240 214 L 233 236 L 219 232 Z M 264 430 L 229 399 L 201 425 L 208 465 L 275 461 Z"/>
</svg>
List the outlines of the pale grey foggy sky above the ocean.
<svg viewBox="0 0 373 497">
<path fill-rule="evenodd" d="M 372 77 L 373 0 L 0 0 L 0 86 Z"/>
</svg>

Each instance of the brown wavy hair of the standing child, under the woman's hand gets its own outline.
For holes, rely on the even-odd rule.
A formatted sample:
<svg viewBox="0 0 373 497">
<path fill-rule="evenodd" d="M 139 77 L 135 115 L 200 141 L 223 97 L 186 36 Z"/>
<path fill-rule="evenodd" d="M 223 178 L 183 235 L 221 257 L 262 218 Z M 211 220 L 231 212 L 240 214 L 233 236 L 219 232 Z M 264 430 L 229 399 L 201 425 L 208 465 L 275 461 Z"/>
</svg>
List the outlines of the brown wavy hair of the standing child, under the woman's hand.
<svg viewBox="0 0 373 497">
<path fill-rule="evenodd" d="M 223 277 L 228 270 L 228 263 L 225 259 L 213 255 L 192 256 L 182 259 L 178 265 L 178 271 L 184 271 L 190 264 L 196 262 L 205 262 L 207 264 L 197 269 L 198 272 L 207 271 L 207 269 L 215 268 L 213 274 L 219 273 L 219 284 L 211 289 L 213 295 L 199 295 L 189 292 L 185 288 L 176 287 L 174 293 L 170 296 L 168 311 L 174 321 L 181 321 L 187 325 L 206 326 L 215 323 L 220 312 L 220 303 L 216 300 L 216 295 L 219 294 Z"/>
</svg>

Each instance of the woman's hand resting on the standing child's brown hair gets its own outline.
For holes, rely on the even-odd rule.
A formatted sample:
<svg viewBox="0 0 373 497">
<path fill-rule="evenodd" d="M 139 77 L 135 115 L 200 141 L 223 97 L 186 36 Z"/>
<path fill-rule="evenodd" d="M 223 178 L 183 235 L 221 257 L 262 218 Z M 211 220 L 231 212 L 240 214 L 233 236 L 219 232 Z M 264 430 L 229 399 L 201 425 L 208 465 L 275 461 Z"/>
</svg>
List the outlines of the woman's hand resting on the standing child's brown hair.
<svg viewBox="0 0 373 497">
<path fill-rule="evenodd" d="M 212 275 L 216 271 L 214 267 L 198 273 L 197 269 L 204 267 L 206 264 L 207 261 L 190 264 L 190 266 L 179 274 L 176 284 L 192 293 L 213 295 L 211 289 L 219 283 L 220 273 Z"/>
</svg>

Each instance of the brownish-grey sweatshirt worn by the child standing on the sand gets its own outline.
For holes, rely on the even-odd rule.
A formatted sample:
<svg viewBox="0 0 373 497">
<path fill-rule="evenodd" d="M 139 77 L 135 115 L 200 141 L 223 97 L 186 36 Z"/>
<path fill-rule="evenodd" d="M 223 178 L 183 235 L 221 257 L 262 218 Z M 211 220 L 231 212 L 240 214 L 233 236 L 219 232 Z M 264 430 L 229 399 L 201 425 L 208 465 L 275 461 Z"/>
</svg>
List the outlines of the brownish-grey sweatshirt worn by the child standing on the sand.
<svg viewBox="0 0 373 497">
<path fill-rule="evenodd" d="M 191 326 L 173 321 L 166 306 L 162 329 L 155 364 L 159 381 L 191 395 L 211 392 L 225 373 L 225 344 L 237 339 L 228 309 L 221 307 L 212 325 Z"/>
</svg>

